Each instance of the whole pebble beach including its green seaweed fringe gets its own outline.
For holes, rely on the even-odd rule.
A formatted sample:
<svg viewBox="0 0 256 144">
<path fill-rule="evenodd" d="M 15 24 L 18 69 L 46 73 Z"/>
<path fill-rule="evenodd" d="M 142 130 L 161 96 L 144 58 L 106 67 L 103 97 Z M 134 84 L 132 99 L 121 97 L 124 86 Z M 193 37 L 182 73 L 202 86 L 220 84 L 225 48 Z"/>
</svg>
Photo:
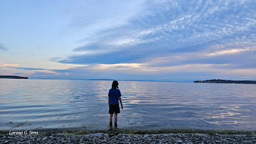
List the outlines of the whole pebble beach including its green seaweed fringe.
<svg viewBox="0 0 256 144">
<path fill-rule="evenodd" d="M 256 131 L 109 129 L 79 131 L 58 129 L 38 134 L 0 131 L 0 143 L 256 143 Z"/>
</svg>

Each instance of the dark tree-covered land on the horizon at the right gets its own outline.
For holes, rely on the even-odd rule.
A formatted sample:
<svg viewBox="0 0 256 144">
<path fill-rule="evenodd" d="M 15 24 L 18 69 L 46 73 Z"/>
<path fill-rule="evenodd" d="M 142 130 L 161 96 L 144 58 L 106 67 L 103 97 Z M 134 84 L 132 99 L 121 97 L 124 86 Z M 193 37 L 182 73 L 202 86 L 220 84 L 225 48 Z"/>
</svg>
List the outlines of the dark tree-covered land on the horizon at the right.
<svg viewBox="0 0 256 144">
<path fill-rule="evenodd" d="M 205 81 L 194 81 L 194 83 L 241 83 L 241 84 L 256 84 L 256 81 L 234 81 L 226 79 L 211 79 Z"/>
</svg>

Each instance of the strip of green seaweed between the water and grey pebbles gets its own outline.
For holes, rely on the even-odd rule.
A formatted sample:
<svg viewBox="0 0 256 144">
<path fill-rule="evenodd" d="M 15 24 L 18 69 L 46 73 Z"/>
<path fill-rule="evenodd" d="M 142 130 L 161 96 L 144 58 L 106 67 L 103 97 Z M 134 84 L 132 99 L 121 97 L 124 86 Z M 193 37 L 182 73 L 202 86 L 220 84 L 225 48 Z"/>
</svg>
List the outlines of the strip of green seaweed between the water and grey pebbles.
<svg viewBox="0 0 256 144">
<path fill-rule="evenodd" d="M 109 136 L 115 136 L 118 134 L 239 134 L 239 135 L 256 135 L 256 131 L 243 131 L 243 130 L 224 130 L 224 129 L 155 129 L 155 130 L 135 130 L 135 129 L 102 129 L 102 130 L 88 130 L 81 128 L 61 128 L 61 129 L 38 129 L 36 130 L 38 135 L 51 136 L 52 134 L 63 134 L 63 135 L 84 135 L 84 134 L 95 134 L 105 133 Z M 0 131 L 0 134 L 10 134 L 12 131 Z M 24 134 L 26 135 L 26 134 Z"/>
</svg>

